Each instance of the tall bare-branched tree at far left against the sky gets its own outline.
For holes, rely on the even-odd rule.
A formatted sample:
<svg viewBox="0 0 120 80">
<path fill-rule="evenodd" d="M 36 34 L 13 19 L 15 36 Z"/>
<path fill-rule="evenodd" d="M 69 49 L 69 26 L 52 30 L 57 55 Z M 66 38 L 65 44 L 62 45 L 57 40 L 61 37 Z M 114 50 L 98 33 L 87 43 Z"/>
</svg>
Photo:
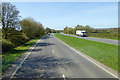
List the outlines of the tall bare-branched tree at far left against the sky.
<svg viewBox="0 0 120 80">
<path fill-rule="evenodd" d="M 19 18 L 19 11 L 14 5 L 6 2 L 2 3 L 2 30 L 4 39 L 8 38 L 8 33 L 11 31 L 8 27 L 14 29 L 20 28 Z"/>
</svg>

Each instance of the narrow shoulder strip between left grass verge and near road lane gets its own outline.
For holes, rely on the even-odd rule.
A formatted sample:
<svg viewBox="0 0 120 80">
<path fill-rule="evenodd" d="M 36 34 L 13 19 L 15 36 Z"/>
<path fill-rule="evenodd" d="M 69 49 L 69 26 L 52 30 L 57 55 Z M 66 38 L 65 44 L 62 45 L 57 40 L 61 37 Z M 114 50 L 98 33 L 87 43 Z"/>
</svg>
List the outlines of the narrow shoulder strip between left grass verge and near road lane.
<svg viewBox="0 0 120 80">
<path fill-rule="evenodd" d="M 40 39 L 42 39 L 42 38 L 40 38 Z M 30 52 L 33 50 L 33 48 L 37 45 L 38 42 L 40 42 L 40 39 L 38 41 L 36 41 L 27 51 L 25 51 L 13 63 L 10 64 L 9 68 L 2 75 L 3 79 L 9 80 L 10 78 L 12 78 L 12 76 L 14 76 L 16 71 L 19 69 L 19 67 L 24 62 L 24 60 L 27 58 L 27 56 L 30 54 Z"/>
</svg>

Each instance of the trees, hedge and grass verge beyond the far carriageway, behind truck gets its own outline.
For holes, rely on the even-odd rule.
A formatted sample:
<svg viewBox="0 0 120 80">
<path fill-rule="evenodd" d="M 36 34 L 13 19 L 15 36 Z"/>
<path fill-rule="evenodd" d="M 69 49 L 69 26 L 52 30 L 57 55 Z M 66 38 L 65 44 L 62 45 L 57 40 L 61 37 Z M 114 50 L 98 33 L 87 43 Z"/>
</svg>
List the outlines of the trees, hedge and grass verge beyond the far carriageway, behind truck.
<svg viewBox="0 0 120 80">
<path fill-rule="evenodd" d="M 76 30 L 85 30 L 87 32 L 87 36 L 120 40 L 119 38 L 120 28 L 94 29 L 90 27 L 89 25 L 86 25 L 86 26 L 77 25 L 74 28 L 65 27 L 64 33 L 65 34 L 76 34 Z"/>
</svg>

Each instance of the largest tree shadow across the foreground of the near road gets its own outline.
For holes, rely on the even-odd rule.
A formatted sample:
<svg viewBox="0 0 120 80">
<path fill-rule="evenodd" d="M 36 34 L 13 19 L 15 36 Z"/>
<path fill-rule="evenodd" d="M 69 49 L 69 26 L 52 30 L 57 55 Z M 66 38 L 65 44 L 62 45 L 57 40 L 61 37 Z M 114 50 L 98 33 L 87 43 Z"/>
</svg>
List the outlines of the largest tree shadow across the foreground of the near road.
<svg viewBox="0 0 120 80">
<path fill-rule="evenodd" d="M 53 56 L 37 56 L 27 58 L 22 67 L 15 74 L 15 78 L 61 78 L 59 67 L 74 67 L 76 64 L 70 59 L 55 58 Z"/>
</svg>

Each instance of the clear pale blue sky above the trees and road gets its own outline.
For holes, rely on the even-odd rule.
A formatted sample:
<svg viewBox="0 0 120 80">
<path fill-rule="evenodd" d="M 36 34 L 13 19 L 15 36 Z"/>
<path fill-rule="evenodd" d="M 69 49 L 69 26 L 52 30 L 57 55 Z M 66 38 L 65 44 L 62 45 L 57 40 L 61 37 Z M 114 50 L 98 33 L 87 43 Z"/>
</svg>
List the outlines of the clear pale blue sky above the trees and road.
<svg viewBox="0 0 120 80">
<path fill-rule="evenodd" d="M 117 2 L 11 2 L 22 19 L 32 17 L 52 29 L 89 25 L 93 28 L 118 27 Z"/>
</svg>

